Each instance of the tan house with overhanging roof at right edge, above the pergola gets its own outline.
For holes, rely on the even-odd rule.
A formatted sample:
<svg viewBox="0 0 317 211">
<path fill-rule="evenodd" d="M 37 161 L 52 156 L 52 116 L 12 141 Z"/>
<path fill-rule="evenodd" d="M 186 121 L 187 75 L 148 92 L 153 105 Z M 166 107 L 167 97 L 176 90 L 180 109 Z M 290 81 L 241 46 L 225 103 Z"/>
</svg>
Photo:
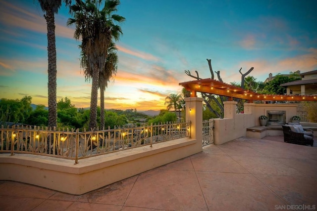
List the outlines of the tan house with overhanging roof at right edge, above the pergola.
<svg viewBox="0 0 317 211">
<path fill-rule="evenodd" d="M 286 94 L 317 95 L 317 70 L 301 73 L 302 80 L 281 84 L 286 88 Z"/>
</svg>

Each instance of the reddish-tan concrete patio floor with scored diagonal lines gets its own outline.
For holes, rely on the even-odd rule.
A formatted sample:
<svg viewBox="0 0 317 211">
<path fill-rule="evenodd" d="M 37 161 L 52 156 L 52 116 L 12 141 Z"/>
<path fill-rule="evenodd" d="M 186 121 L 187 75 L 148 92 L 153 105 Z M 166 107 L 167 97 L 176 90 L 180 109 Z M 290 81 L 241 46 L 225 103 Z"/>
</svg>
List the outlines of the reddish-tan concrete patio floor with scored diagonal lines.
<svg viewBox="0 0 317 211">
<path fill-rule="evenodd" d="M 241 137 L 80 196 L 0 181 L 0 210 L 317 210 L 315 146 Z"/>
</svg>

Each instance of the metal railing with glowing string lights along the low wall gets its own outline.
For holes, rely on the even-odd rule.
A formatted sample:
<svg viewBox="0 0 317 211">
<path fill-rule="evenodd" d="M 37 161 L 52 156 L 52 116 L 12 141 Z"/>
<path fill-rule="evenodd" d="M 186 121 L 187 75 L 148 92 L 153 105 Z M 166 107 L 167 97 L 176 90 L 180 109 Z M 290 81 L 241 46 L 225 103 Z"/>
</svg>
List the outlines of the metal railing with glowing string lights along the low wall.
<svg viewBox="0 0 317 211">
<path fill-rule="evenodd" d="M 25 153 L 75 160 L 190 137 L 191 123 L 79 131 L 47 127 L 0 128 L 0 153 Z"/>
</svg>

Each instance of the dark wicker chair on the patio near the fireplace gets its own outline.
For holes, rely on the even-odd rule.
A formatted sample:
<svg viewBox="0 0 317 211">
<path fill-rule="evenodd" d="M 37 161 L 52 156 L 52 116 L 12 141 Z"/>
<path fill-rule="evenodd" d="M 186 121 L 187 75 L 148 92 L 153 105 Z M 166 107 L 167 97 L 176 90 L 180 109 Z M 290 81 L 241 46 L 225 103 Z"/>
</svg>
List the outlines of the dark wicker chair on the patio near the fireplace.
<svg viewBox="0 0 317 211">
<path fill-rule="evenodd" d="M 314 139 L 311 136 L 304 136 L 304 133 L 293 132 L 290 127 L 282 126 L 284 133 L 284 142 L 300 145 L 314 145 Z"/>
</svg>

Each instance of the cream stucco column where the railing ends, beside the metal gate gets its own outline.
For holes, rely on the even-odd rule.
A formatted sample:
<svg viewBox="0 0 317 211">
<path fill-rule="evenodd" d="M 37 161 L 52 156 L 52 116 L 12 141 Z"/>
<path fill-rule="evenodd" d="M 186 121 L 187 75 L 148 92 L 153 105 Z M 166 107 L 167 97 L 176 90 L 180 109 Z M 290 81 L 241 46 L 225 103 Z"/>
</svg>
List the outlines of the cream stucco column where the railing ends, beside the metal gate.
<svg viewBox="0 0 317 211">
<path fill-rule="evenodd" d="M 203 140 L 203 98 L 186 97 L 186 121 L 192 122 L 191 137 Z"/>
</svg>

